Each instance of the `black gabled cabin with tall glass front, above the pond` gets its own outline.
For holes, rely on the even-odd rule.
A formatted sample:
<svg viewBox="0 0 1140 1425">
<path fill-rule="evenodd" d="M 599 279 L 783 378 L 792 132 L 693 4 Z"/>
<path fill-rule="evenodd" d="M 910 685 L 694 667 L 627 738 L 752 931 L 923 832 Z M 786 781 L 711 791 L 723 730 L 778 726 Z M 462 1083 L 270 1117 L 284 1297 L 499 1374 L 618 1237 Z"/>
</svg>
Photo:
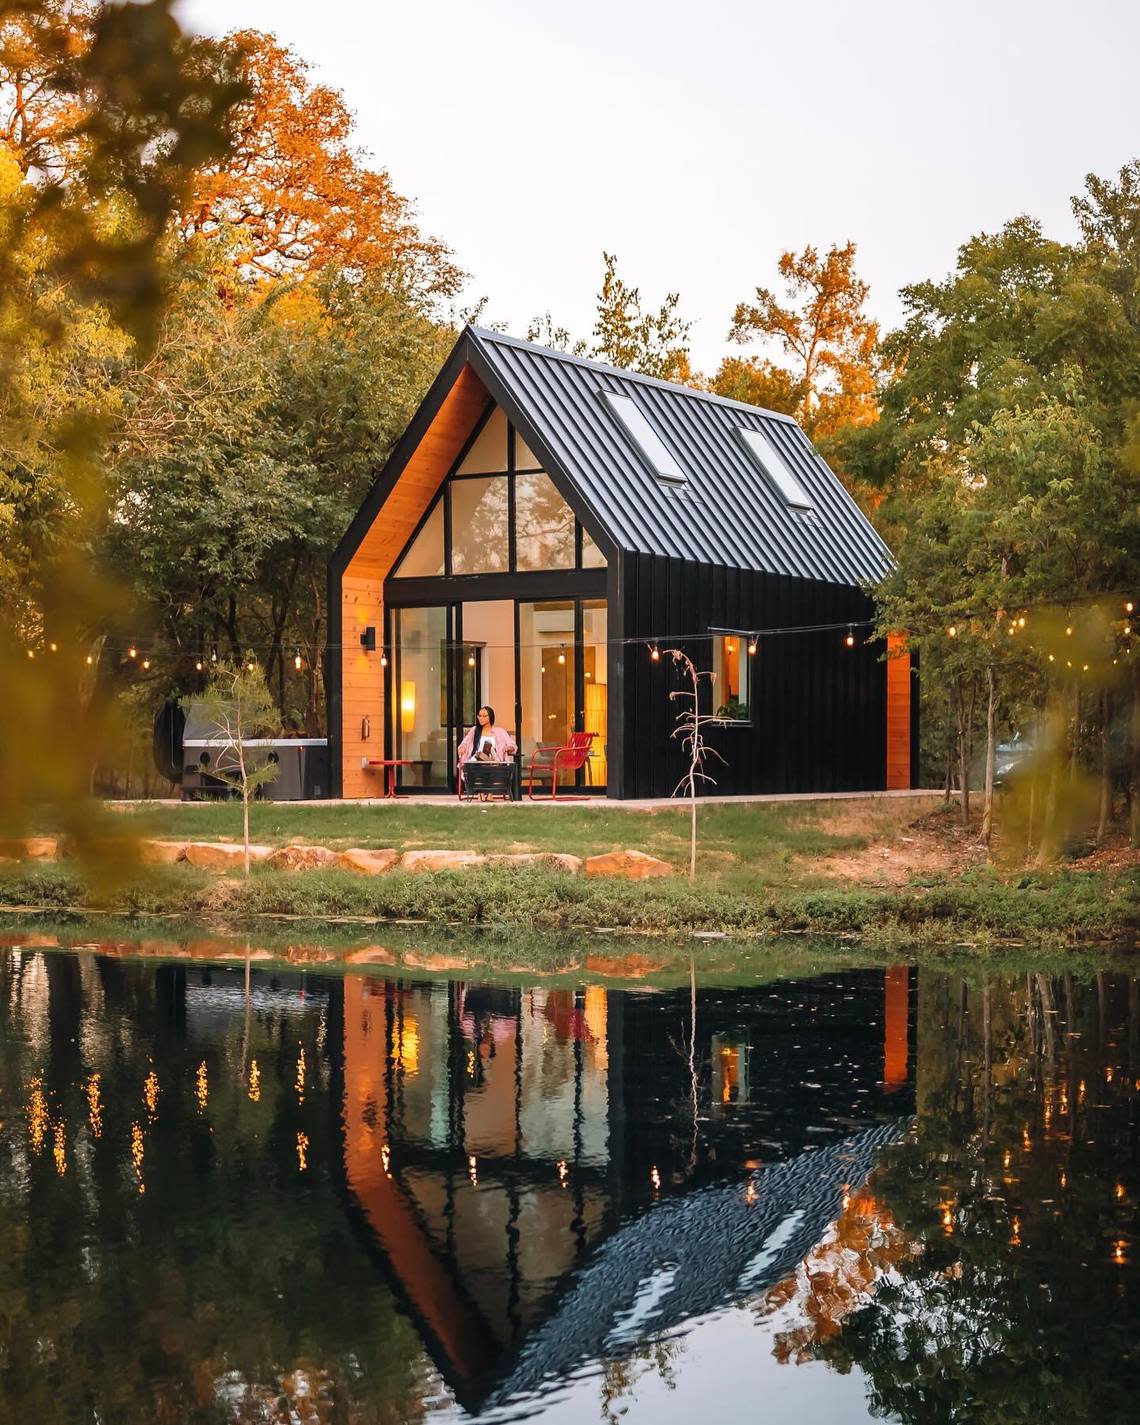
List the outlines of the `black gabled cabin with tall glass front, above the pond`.
<svg viewBox="0 0 1140 1425">
<path fill-rule="evenodd" d="M 453 791 L 490 703 L 523 761 L 596 732 L 581 784 L 668 795 L 650 640 L 717 675 L 721 792 L 909 787 L 909 658 L 864 627 L 888 563 L 789 418 L 467 328 L 331 561 L 333 794 L 383 757 Z"/>
</svg>

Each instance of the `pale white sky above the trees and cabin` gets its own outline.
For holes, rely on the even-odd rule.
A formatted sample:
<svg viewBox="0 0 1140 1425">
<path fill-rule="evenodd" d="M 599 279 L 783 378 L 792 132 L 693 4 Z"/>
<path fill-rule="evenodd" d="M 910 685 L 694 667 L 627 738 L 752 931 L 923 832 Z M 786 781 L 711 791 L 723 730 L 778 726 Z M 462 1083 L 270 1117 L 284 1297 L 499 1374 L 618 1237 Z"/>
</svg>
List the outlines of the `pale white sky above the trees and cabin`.
<svg viewBox="0 0 1140 1425">
<path fill-rule="evenodd" d="M 852 239 L 884 328 L 899 288 L 1027 212 L 1074 232 L 1084 175 L 1140 157 L 1134 0 L 182 0 L 275 33 L 524 336 L 589 335 L 603 251 L 698 370 L 788 248 Z M 755 348 L 750 348 L 755 349 Z"/>
</svg>

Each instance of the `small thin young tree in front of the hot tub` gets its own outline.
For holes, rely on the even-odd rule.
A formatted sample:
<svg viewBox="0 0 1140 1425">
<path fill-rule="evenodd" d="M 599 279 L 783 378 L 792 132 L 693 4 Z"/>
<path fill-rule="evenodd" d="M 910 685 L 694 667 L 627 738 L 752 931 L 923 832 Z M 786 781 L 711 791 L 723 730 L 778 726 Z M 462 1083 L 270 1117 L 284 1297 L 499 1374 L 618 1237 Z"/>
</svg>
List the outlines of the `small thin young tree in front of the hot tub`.
<svg viewBox="0 0 1140 1425">
<path fill-rule="evenodd" d="M 255 738 L 281 731 L 276 707 L 256 663 L 218 663 L 205 693 L 194 698 L 198 717 L 215 744 L 209 775 L 241 792 L 242 868 L 249 875 L 249 801 L 278 774 L 278 764 L 259 761 L 249 750 Z M 231 765 L 222 765 L 222 760 Z"/>
</svg>

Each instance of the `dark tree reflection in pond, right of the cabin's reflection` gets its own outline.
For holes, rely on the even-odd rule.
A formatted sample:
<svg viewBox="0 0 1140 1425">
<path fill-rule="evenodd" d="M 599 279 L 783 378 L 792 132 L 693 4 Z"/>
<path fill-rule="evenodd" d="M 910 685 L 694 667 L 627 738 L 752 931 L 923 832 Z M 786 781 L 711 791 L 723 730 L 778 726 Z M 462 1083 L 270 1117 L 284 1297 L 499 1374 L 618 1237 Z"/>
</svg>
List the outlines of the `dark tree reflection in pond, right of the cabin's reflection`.
<svg viewBox="0 0 1140 1425">
<path fill-rule="evenodd" d="M 922 976 L 919 1116 L 871 1184 L 913 1245 L 807 1332 L 876 1414 L 1134 1419 L 1137 1027 L 1134 980 Z"/>
</svg>

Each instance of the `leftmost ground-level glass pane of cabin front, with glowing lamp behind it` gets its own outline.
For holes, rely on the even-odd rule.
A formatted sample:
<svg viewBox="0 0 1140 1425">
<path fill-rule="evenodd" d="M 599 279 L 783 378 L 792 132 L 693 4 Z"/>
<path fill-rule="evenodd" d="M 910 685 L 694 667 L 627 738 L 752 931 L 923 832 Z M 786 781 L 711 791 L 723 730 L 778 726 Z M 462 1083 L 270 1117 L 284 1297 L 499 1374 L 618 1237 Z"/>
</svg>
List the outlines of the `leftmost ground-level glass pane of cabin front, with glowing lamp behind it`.
<svg viewBox="0 0 1140 1425">
<path fill-rule="evenodd" d="M 447 610 L 398 608 L 396 658 L 392 671 L 392 727 L 405 787 L 446 787 L 447 738 Z"/>
</svg>

